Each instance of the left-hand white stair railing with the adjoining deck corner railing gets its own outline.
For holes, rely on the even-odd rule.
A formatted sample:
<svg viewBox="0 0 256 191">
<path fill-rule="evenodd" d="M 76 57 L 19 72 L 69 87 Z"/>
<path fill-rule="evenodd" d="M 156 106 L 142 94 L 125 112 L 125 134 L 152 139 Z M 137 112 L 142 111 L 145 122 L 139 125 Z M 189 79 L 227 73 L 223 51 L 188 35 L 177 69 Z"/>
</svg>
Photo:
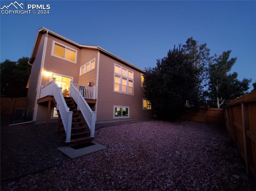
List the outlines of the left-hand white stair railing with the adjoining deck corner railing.
<svg viewBox="0 0 256 191">
<path fill-rule="evenodd" d="M 72 126 L 72 115 L 73 112 L 68 110 L 68 106 L 62 94 L 62 88 L 58 87 L 56 83 L 56 78 L 52 78 L 50 83 L 46 83 L 44 87 L 41 88 L 40 98 L 45 96 L 54 96 L 56 101 L 56 109 L 59 110 L 62 124 L 66 132 L 66 143 L 71 142 L 71 126 Z"/>
</svg>

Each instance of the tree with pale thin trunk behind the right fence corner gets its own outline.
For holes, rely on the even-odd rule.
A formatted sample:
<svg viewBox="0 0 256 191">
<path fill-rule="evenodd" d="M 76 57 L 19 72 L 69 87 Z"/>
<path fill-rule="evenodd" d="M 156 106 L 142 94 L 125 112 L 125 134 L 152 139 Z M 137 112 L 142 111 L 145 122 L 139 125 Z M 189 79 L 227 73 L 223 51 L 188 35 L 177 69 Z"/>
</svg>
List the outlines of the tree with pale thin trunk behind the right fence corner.
<svg viewBox="0 0 256 191">
<path fill-rule="evenodd" d="M 231 51 L 224 51 L 222 55 L 216 56 L 208 68 L 209 84 L 208 93 L 210 102 L 217 107 L 227 104 L 230 100 L 247 93 L 250 79 L 237 79 L 238 73 L 229 73 L 236 62 L 236 58 L 229 59 Z"/>
</svg>

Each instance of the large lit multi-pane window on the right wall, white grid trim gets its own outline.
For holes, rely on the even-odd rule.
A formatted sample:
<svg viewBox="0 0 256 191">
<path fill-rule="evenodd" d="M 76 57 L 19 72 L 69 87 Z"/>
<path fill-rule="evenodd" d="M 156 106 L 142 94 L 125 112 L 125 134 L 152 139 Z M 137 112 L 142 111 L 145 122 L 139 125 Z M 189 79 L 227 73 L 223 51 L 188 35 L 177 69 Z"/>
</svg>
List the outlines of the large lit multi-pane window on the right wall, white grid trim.
<svg viewBox="0 0 256 191">
<path fill-rule="evenodd" d="M 114 92 L 133 95 L 133 72 L 115 64 Z"/>
</svg>

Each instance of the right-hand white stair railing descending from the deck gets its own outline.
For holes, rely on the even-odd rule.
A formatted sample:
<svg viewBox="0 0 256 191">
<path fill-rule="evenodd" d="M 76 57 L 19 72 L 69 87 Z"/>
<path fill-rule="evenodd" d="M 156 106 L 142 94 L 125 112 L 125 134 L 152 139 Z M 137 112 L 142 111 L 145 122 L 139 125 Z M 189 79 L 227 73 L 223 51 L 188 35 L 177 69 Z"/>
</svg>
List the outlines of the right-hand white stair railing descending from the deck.
<svg viewBox="0 0 256 191">
<path fill-rule="evenodd" d="M 82 96 L 82 91 L 76 89 L 74 83 L 70 82 L 69 96 L 74 99 L 77 104 L 77 109 L 81 111 L 88 127 L 90 128 L 90 137 L 94 137 L 95 132 L 95 122 L 96 122 L 96 111 L 92 111 L 84 97 Z"/>
</svg>

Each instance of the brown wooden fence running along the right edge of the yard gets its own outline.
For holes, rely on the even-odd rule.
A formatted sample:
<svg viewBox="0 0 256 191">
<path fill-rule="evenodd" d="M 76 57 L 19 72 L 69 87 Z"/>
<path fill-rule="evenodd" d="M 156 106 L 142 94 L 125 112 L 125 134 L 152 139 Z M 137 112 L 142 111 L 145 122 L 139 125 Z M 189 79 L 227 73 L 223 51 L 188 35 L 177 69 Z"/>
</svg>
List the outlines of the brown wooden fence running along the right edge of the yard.
<svg viewBox="0 0 256 191">
<path fill-rule="evenodd" d="M 225 118 L 230 137 L 246 162 L 248 175 L 256 178 L 256 90 L 229 102 Z"/>
</svg>

